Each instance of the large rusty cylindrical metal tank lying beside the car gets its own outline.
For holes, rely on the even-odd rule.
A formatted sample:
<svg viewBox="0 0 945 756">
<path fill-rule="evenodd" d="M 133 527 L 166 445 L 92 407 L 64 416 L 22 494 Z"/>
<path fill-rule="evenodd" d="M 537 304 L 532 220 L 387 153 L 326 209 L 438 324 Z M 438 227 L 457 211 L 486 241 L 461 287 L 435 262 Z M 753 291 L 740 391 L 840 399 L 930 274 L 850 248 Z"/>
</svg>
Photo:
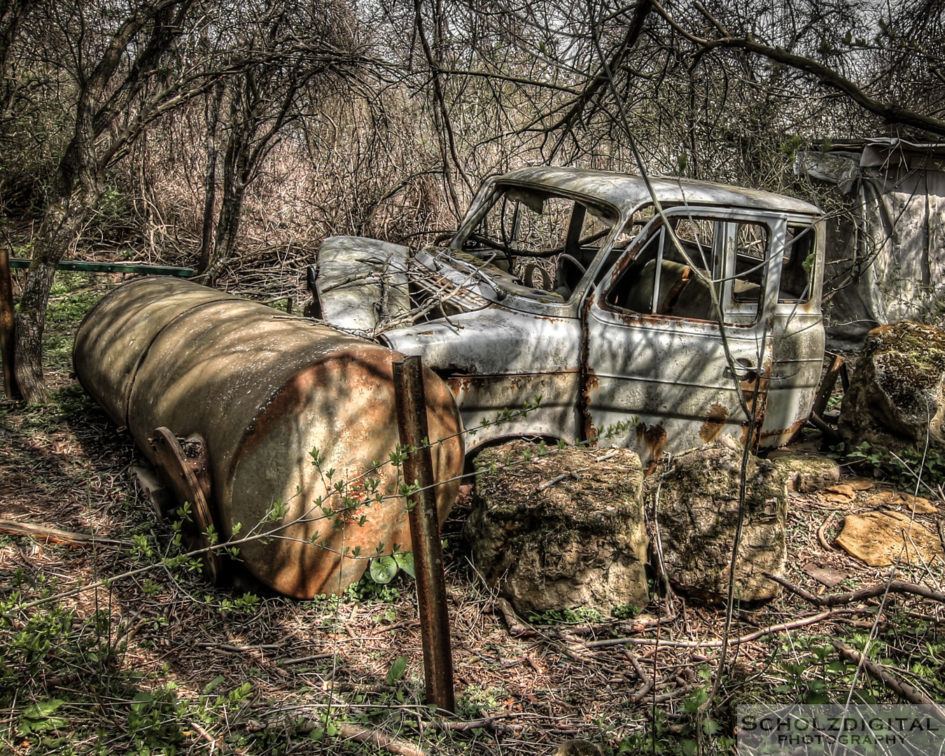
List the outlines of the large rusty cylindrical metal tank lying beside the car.
<svg viewBox="0 0 945 756">
<path fill-rule="evenodd" d="M 398 443 L 391 364 L 399 357 L 166 278 L 113 289 L 83 320 L 73 352 L 82 386 L 152 462 L 157 428 L 202 438 L 217 530 L 233 541 L 270 533 L 240 545 L 240 558 L 298 598 L 338 593 L 378 550 L 411 547 L 397 468 L 375 466 Z M 442 522 L 463 468 L 461 421 L 429 369 L 424 388 Z M 383 501 L 371 501 L 375 488 Z"/>
</svg>

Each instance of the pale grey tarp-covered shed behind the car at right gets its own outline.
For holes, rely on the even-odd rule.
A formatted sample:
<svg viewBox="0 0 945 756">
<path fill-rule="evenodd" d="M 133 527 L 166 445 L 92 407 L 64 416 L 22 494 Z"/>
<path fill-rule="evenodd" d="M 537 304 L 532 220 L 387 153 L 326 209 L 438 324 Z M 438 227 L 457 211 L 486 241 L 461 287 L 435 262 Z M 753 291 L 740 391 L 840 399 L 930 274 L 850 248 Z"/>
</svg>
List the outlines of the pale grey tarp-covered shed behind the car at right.
<svg viewBox="0 0 945 756">
<path fill-rule="evenodd" d="M 945 145 L 868 140 L 802 153 L 798 170 L 848 200 L 848 212 L 828 222 L 834 346 L 856 344 L 882 323 L 945 316 Z"/>
</svg>

